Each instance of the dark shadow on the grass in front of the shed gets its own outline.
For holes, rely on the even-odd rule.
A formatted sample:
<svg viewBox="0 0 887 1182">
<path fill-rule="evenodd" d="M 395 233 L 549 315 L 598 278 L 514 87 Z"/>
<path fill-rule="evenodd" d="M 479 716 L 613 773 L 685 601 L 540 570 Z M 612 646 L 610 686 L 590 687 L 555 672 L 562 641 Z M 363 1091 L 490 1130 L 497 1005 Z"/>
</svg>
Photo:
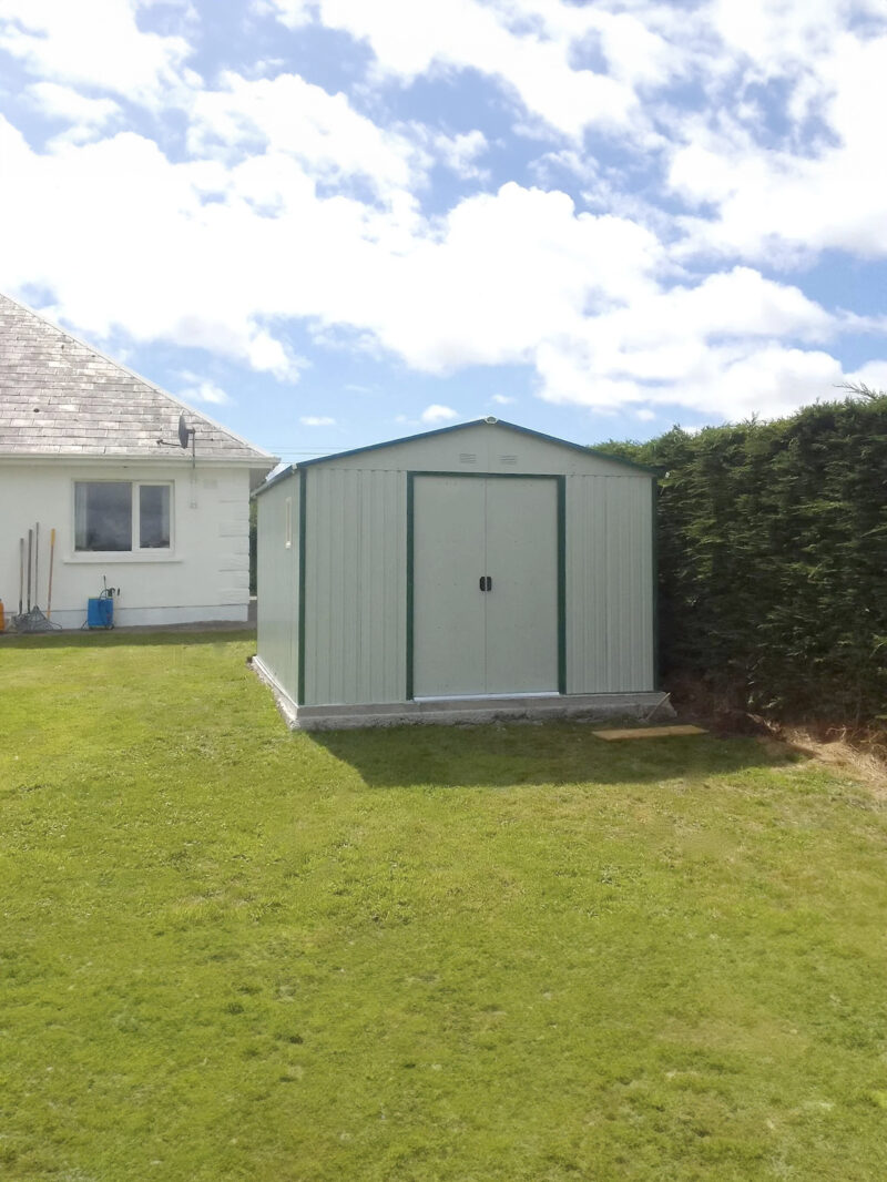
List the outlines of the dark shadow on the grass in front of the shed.
<svg viewBox="0 0 887 1182">
<path fill-rule="evenodd" d="M 593 726 L 391 727 L 315 732 L 310 740 L 371 787 L 626 784 L 778 767 L 801 756 L 750 738 L 698 735 L 604 742 Z"/>
</svg>

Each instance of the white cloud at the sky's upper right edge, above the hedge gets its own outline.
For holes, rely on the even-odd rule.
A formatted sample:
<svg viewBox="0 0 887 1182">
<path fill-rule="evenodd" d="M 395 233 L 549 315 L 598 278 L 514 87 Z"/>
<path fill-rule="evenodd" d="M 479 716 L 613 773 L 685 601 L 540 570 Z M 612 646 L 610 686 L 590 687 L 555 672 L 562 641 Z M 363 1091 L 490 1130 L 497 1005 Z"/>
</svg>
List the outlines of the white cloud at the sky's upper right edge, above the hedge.
<svg viewBox="0 0 887 1182">
<path fill-rule="evenodd" d="M 817 17 L 829 11 L 831 19 L 818 25 Z M 829 248 L 863 258 L 887 254 L 879 149 L 887 22 L 881 21 L 881 35 L 865 37 L 841 30 L 840 5 L 817 4 L 810 19 L 805 12 L 758 0 L 750 9 L 755 19 L 743 25 L 750 54 L 770 46 L 749 67 L 749 80 L 781 65 L 788 71 L 781 79 L 790 92 L 789 126 L 781 139 L 762 144 L 763 117 L 755 115 L 746 125 L 729 106 L 717 109 L 711 125 L 698 117 L 685 122 L 686 142 L 672 154 L 668 184 L 700 213 L 684 223 L 689 235 L 684 254 L 777 264 Z"/>
</svg>

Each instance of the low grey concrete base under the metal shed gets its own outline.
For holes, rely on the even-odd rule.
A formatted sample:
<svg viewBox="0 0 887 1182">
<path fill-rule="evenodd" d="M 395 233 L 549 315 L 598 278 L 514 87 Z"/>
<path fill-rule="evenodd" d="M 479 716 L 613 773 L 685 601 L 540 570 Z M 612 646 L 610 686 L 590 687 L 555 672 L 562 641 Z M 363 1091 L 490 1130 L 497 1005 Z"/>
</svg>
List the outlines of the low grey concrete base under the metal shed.
<svg viewBox="0 0 887 1182">
<path fill-rule="evenodd" d="M 601 722 L 674 717 L 668 694 L 539 694 L 514 697 L 440 697 L 414 702 L 373 702 L 365 706 L 297 706 L 274 675 L 253 657 L 252 667 L 271 687 L 278 709 L 291 730 L 352 730 L 357 727 L 397 727 L 414 723 L 477 726 L 485 722 L 543 722 L 548 719 Z"/>
</svg>

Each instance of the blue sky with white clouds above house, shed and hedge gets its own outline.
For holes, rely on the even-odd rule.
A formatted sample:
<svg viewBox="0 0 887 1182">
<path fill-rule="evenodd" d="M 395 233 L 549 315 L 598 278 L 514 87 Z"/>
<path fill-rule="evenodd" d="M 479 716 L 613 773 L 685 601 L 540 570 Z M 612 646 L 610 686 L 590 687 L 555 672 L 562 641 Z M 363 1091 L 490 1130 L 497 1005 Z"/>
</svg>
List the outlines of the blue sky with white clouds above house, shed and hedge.
<svg viewBox="0 0 887 1182">
<path fill-rule="evenodd" d="M 0 0 L 0 290 L 287 461 L 887 388 L 885 0 Z"/>
</svg>

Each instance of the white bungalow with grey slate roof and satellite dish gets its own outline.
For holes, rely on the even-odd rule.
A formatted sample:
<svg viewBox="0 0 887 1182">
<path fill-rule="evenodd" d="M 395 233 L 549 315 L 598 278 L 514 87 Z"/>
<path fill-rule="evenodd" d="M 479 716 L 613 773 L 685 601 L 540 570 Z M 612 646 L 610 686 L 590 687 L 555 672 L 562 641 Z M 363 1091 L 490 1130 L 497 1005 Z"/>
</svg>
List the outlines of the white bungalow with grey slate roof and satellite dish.
<svg viewBox="0 0 887 1182">
<path fill-rule="evenodd" d="M 183 416 L 180 446 L 180 416 Z M 248 501 L 276 460 L 0 296 L 0 598 L 80 628 L 245 621 Z M 54 550 L 50 543 L 54 530 Z M 22 539 L 25 545 L 22 546 Z M 22 560 L 24 552 L 24 560 Z M 35 567 L 35 569 L 34 569 Z"/>
</svg>

